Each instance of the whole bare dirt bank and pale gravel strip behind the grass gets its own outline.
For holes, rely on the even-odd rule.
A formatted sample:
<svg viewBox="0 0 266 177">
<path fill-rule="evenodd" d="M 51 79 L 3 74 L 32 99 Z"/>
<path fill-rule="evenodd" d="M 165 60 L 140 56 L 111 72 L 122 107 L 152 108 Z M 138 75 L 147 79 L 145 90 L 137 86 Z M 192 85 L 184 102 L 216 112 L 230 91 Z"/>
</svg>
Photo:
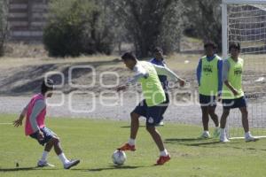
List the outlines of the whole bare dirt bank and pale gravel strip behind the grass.
<svg viewBox="0 0 266 177">
<path fill-rule="evenodd" d="M 178 104 L 172 101 L 165 113 L 165 122 L 178 122 L 184 124 L 201 125 L 201 112 L 200 105 L 194 103 L 198 96 L 192 96 L 196 93 L 197 83 L 195 81 L 195 67 L 198 63 L 199 56 L 193 55 L 178 55 L 167 60 L 168 65 L 186 81 L 189 85 L 185 89 L 177 89 L 180 91 L 191 90 L 191 95 L 184 93 L 182 96 L 176 96 L 174 100 L 178 100 Z M 91 61 L 90 61 L 91 60 Z M 189 65 L 184 63 L 184 60 L 190 61 Z M 29 59 L 26 62 L 23 59 L 10 59 L 2 60 L 3 65 L 0 65 L 0 113 L 18 114 L 23 106 L 27 104 L 33 92 L 37 92 L 40 83 L 43 81 L 43 76 L 48 72 L 61 72 L 64 75 L 64 87 L 60 90 L 64 92 L 66 98 L 64 103 L 60 106 L 49 106 L 48 116 L 50 117 L 72 117 L 72 118 L 94 118 L 94 119 L 115 119 L 115 120 L 129 120 L 129 113 L 135 108 L 138 101 L 140 90 L 133 95 L 125 94 L 123 99 L 118 96 L 114 99 L 100 99 L 100 96 L 105 91 L 112 91 L 101 87 L 99 75 L 104 72 L 113 72 L 119 74 L 119 82 L 123 83 L 129 78 L 128 70 L 122 65 L 118 59 L 112 58 L 70 58 L 70 59 Z M 90 89 L 74 89 L 68 82 L 69 69 L 74 65 L 91 65 L 96 69 L 96 81 L 94 87 Z M 248 72 L 252 73 L 252 72 Z M 77 70 L 73 73 L 72 77 L 74 84 L 90 84 L 92 72 L 90 70 L 82 71 Z M 255 75 L 254 73 L 251 75 Z M 113 77 L 114 76 L 114 77 Z M 106 74 L 102 77 L 105 84 L 115 84 L 115 75 Z M 58 76 L 52 76 L 56 83 L 60 83 Z M 262 95 L 256 94 L 265 93 L 266 82 L 255 83 L 255 77 L 245 77 L 244 84 L 248 96 L 254 96 L 256 101 L 249 103 L 249 117 L 251 127 L 266 127 L 266 98 Z M 247 86 L 247 87 L 246 87 Z M 255 88 L 254 88 L 255 86 Z M 175 88 L 174 88 L 175 89 Z M 257 92 L 254 92 L 255 89 Z M 76 95 L 75 91 L 86 91 L 87 95 Z M 74 94 L 73 99 L 69 97 Z M 108 94 L 108 93 L 106 93 Z M 91 98 L 95 95 L 95 99 Z M 186 100 L 181 98 L 186 96 Z M 192 99 L 187 100 L 188 96 Z M 53 96 L 51 104 L 59 104 L 61 96 Z M 262 100 L 262 103 L 260 103 Z M 104 105 L 104 104 L 113 104 Z M 71 106 L 69 106 L 71 105 Z M 70 108 L 73 109 L 70 109 Z M 93 111 L 88 112 L 88 110 Z M 71 111 L 72 110 L 72 111 Z M 86 112 L 87 111 L 87 112 Z M 222 106 L 217 106 L 217 114 L 220 117 L 222 114 Z M 231 112 L 229 118 L 231 126 L 241 127 L 241 119 L 237 110 Z M 212 121 L 210 121 L 212 122 Z M 213 123 L 211 123 L 213 125 Z"/>
</svg>

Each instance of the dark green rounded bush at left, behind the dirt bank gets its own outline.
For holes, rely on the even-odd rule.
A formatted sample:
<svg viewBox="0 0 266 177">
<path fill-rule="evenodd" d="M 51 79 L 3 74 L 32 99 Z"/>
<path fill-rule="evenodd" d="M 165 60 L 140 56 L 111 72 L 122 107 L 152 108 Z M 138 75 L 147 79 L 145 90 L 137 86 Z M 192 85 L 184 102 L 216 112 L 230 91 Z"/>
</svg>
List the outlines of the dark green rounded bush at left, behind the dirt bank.
<svg viewBox="0 0 266 177">
<path fill-rule="evenodd" d="M 43 30 L 45 49 L 52 57 L 110 54 L 113 35 L 103 17 L 104 12 L 93 1 L 52 0 Z"/>
</svg>

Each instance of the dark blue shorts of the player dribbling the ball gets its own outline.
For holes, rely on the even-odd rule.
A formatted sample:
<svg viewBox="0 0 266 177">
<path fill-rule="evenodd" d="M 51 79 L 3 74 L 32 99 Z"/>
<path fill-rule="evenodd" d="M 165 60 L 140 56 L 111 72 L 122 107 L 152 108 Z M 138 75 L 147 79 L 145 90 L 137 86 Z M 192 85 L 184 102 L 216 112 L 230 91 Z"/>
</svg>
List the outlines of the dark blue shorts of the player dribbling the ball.
<svg viewBox="0 0 266 177">
<path fill-rule="evenodd" d="M 167 107 L 168 100 L 162 104 L 151 107 L 148 107 L 146 101 L 143 100 L 137 104 L 133 112 L 146 118 L 146 126 L 154 127 L 163 119 L 163 113 L 166 111 Z"/>
</svg>

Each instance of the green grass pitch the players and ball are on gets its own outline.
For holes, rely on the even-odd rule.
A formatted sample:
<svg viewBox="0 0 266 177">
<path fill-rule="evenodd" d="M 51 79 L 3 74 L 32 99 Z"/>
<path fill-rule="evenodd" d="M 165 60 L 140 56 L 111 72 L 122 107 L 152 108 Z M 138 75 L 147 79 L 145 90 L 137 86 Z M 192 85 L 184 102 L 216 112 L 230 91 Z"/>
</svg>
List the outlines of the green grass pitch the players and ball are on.
<svg viewBox="0 0 266 177">
<path fill-rule="evenodd" d="M 1 115 L 0 122 L 11 122 L 12 115 Z M 81 164 L 64 170 L 51 152 L 49 161 L 56 168 L 34 168 L 43 148 L 26 137 L 23 128 L 0 124 L 0 176 L 265 176 L 265 139 L 258 142 L 235 140 L 220 143 L 216 139 L 199 140 L 200 127 L 166 122 L 160 127 L 171 161 L 154 166 L 158 156 L 150 135 L 140 127 L 137 151 L 127 152 L 125 165 L 116 167 L 111 155 L 129 137 L 129 122 L 96 119 L 47 119 L 68 158 L 80 158 Z M 143 125 L 143 123 L 142 123 Z M 20 164 L 15 167 L 16 162 Z"/>
</svg>

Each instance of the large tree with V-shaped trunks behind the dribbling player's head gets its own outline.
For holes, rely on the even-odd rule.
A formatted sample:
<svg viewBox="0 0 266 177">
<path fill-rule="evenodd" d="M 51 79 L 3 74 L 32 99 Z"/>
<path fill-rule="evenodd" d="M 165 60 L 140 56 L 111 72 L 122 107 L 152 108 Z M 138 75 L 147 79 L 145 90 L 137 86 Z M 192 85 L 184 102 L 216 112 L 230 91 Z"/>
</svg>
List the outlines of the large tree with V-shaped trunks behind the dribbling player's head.
<svg viewBox="0 0 266 177">
<path fill-rule="evenodd" d="M 179 50 L 183 32 L 182 1 L 117 0 L 111 4 L 138 57 L 149 56 L 158 45 L 166 52 Z"/>
</svg>

